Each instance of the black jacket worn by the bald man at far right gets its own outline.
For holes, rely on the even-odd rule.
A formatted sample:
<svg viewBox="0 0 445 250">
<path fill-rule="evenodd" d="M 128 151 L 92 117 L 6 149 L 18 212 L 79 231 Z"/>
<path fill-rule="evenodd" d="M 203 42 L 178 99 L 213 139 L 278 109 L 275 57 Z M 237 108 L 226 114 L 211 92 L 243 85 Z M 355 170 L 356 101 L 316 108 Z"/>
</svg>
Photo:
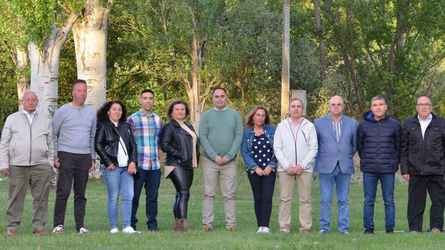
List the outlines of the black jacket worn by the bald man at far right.
<svg viewBox="0 0 445 250">
<path fill-rule="evenodd" d="M 432 113 L 431 113 L 432 114 Z M 405 121 L 400 148 L 400 172 L 414 175 L 445 173 L 445 120 L 432 114 L 422 137 L 417 114 Z"/>
</svg>

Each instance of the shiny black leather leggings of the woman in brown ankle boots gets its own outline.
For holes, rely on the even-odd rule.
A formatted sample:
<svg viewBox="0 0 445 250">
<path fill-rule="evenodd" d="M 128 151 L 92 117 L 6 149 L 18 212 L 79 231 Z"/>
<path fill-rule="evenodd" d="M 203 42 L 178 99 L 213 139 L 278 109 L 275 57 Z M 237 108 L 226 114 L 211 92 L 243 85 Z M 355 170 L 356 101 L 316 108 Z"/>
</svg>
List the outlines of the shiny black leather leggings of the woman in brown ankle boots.
<svg viewBox="0 0 445 250">
<path fill-rule="evenodd" d="M 187 207 L 190 197 L 190 187 L 193 182 L 193 169 L 175 168 L 168 175 L 176 189 L 173 201 L 174 218 L 187 219 Z"/>
</svg>

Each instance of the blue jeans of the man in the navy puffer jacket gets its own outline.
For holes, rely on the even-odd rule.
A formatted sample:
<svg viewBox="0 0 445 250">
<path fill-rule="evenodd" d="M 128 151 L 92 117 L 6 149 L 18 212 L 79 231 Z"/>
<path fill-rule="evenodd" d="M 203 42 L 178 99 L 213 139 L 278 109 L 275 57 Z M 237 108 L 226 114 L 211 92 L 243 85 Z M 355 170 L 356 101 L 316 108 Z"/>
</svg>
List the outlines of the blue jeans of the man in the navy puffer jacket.
<svg viewBox="0 0 445 250">
<path fill-rule="evenodd" d="M 394 174 L 363 173 L 363 191 L 365 192 L 363 226 L 374 229 L 374 203 L 379 179 L 382 188 L 383 202 L 385 204 L 385 228 L 394 228 Z"/>
</svg>

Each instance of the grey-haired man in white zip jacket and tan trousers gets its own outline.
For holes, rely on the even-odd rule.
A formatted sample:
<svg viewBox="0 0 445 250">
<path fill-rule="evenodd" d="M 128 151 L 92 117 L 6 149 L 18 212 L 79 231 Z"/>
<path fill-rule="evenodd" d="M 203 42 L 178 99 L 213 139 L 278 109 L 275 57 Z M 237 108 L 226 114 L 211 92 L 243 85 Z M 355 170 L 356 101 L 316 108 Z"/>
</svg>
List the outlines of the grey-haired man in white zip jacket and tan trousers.
<svg viewBox="0 0 445 250">
<path fill-rule="evenodd" d="M 278 221 L 280 233 L 290 233 L 292 195 L 295 181 L 299 196 L 300 233 L 309 234 L 312 226 L 313 162 L 318 151 L 317 132 L 314 124 L 303 118 L 303 102 L 292 99 L 290 117 L 278 124 L 274 136 L 274 153 L 278 159 L 280 206 Z"/>
</svg>

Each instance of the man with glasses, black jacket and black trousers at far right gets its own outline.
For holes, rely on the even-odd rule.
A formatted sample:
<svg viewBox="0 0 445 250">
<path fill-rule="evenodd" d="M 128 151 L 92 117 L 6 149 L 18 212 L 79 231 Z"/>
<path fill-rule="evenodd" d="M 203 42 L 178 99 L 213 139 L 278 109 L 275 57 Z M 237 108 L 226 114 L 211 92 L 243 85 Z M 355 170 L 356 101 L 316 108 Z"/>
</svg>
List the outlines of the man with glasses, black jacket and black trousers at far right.
<svg viewBox="0 0 445 250">
<path fill-rule="evenodd" d="M 426 192 L 431 198 L 432 233 L 443 228 L 445 206 L 445 120 L 431 113 L 431 100 L 417 99 L 417 113 L 405 121 L 402 132 L 400 172 L 408 186 L 408 224 L 411 232 L 421 232 Z"/>
</svg>

